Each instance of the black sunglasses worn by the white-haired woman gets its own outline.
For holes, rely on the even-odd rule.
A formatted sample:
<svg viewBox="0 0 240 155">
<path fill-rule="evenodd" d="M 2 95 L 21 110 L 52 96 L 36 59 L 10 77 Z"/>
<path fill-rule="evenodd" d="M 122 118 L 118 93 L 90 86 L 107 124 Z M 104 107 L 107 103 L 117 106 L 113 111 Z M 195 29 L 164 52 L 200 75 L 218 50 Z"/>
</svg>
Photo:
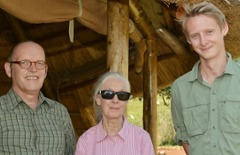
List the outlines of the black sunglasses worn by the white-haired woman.
<svg viewBox="0 0 240 155">
<path fill-rule="evenodd" d="M 115 94 L 117 94 L 118 99 L 121 101 L 127 101 L 131 96 L 129 92 L 125 92 L 125 91 L 114 92 L 112 90 L 100 90 L 99 94 L 101 94 L 102 98 L 106 100 L 113 99 Z"/>
</svg>

